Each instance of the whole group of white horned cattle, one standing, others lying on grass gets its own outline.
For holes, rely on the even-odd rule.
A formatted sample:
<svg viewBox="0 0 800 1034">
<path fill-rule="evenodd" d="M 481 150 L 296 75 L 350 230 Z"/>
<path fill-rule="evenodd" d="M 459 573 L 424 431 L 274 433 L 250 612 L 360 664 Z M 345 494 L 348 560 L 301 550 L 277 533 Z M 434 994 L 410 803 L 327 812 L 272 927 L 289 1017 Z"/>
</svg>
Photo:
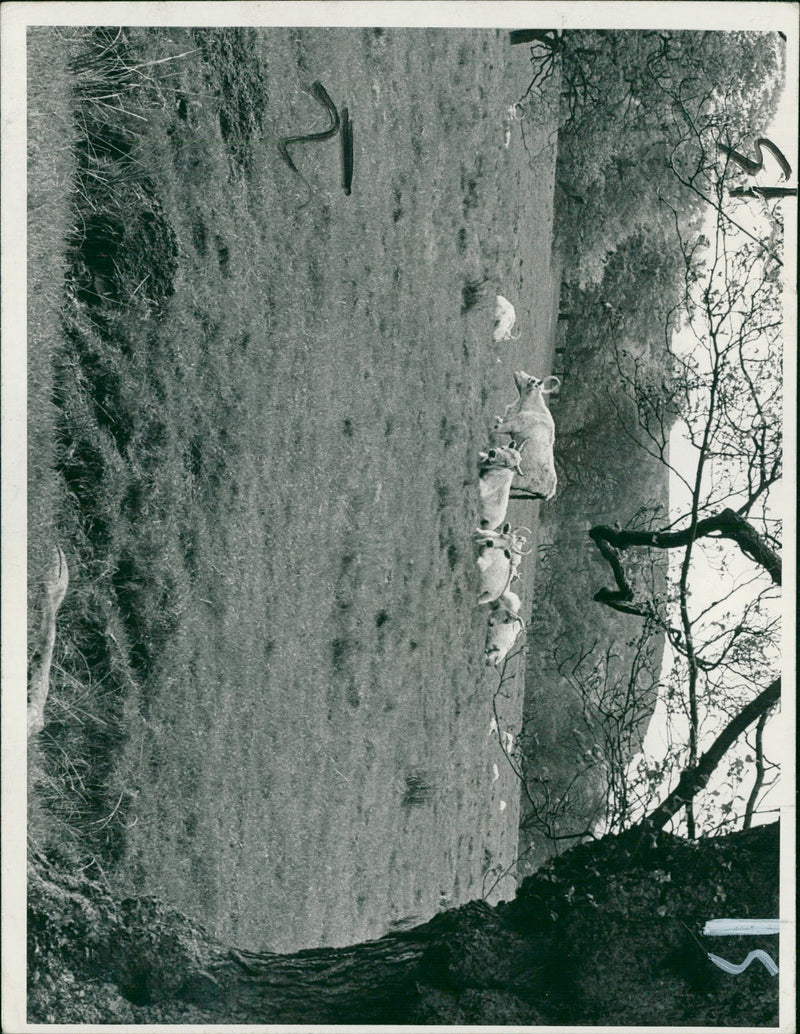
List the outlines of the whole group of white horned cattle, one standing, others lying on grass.
<svg viewBox="0 0 800 1034">
<path fill-rule="evenodd" d="M 509 311 L 510 310 L 510 311 Z M 516 316 L 511 302 L 497 296 L 494 340 L 509 340 Z M 498 330 L 502 328 L 501 336 Z M 545 396 L 560 386 L 556 376 L 541 381 L 523 370 L 514 374 L 518 397 L 505 407 L 502 417 L 495 417 L 491 428 L 491 444 L 479 453 L 479 523 L 472 535 L 478 550 L 480 572 L 479 604 L 489 604 L 485 661 L 489 667 L 499 667 L 517 641 L 525 622 L 520 617 L 521 602 L 512 589 L 519 578 L 522 557 L 530 528 L 512 530 L 505 520 L 514 476 L 525 478 L 525 488 L 531 498 L 552 499 L 556 490 L 553 463 L 555 426 Z M 506 440 L 500 444 L 500 437 Z M 525 467 L 523 473 L 523 450 Z"/>
</svg>

